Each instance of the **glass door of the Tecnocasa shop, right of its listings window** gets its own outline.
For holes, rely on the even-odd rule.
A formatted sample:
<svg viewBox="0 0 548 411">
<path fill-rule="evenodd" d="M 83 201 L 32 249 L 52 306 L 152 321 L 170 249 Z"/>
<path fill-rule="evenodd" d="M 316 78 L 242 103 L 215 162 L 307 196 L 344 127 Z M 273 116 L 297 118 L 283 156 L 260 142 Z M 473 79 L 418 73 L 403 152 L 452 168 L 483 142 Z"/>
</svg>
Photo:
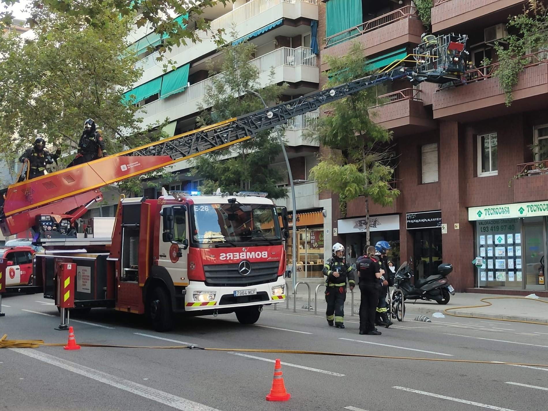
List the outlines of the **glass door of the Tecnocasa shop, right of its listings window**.
<svg viewBox="0 0 548 411">
<path fill-rule="evenodd" d="M 542 222 L 523 225 L 525 237 L 524 263 L 525 288 L 528 290 L 544 290 L 545 238 Z"/>
</svg>

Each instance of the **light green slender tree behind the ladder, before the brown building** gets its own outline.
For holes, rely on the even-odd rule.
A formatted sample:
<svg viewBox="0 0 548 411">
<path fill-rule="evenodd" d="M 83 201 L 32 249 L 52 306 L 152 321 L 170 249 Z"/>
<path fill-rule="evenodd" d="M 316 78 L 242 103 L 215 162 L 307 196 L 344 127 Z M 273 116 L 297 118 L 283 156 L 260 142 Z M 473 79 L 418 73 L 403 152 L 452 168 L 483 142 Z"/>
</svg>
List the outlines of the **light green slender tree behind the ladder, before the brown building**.
<svg viewBox="0 0 548 411">
<path fill-rule="evenodd" d="M 333 75 L 326 88 L 368 75 L 358 43 L 352 44 L 346 56 L 327 60 Z M 344 215 L 347 201 L 364 197 L 368 244 L 369 199 L 385 207 L 399 195 L 389 184 L 394 173 L 390 165 L 392 135 L 370 117 L 369 107 L 375 105 L 371 90 L 362 90 L 328 105 L 329 115 L 318 119 L 316 138 L 322 146 L 334 151 L 311 170 L 311 178 L 318 181 L 320 190 L 339 195 Z"/>
</svg>

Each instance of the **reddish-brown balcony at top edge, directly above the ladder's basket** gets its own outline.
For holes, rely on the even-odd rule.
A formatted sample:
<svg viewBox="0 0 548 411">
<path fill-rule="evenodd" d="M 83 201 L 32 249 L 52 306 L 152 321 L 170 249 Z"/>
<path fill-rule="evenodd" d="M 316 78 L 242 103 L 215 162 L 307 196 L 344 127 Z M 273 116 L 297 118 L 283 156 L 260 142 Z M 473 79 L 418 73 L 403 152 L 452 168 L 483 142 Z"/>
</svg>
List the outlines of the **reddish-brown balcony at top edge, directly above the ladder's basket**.
<svg viewBox="0 0 548 411">
<path fill-rule="evenodd" d="M 459 27 L 461 31 L 472 24 L 475 27 L 494 25 L 506 21 L 512 11 L 508 8 L 517 5 L 519 12 L 523 3 L 523 0 L 434 0 L 432 32 L 446 32 L 459 25 L 465 25 L 463 30 Z"/>
</svg>

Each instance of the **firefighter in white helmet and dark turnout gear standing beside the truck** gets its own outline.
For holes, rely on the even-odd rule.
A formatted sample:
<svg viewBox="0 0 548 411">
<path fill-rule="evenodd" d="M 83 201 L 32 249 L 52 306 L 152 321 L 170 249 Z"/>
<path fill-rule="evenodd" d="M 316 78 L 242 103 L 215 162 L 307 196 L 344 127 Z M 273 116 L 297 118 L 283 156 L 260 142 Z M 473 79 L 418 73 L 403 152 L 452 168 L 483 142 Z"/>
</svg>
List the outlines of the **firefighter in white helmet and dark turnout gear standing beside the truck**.
<svg viewBox="0 0 548 411">
<path fill-rule="evenodd" d="M 346 280 L 353 290 L 356 282 L 352 266 L 346 264 L 343 244 L 333 246 L 333 257 L 323 266 L 326 279 L 327 323 L 329 326 L 344 328 L 344 301 L 346 300 Z"/>
</svg>

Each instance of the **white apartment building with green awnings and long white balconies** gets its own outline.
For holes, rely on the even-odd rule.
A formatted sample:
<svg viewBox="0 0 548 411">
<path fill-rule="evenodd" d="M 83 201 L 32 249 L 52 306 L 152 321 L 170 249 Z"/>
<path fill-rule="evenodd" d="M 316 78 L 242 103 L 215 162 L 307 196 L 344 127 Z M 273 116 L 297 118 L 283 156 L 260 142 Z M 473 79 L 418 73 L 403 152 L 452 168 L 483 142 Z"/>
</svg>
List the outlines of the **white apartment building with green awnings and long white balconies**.
<svg viewBox="0 0 548 411">
<path fill-rule="evenodd" d="M 232 27 L 238 38 L 233 43 L 248 41 L 256 45 L 255 58 L 251 61 L 260 73 L 260 83 L 266 85 L 270 71 L 275 73 L 276 83 L 286 82 L 289 88 L 282 99 L 292 99 L 318 89 L 318 50 L 311 48 L 317 39 L 319 0 L 237 0 L 225 5 L 217 4 L 204 9 L 203 18 L 210 22 L 212 31 L 224 28 L 226 36 Z M 193 24 L 189 22 L 189 26 Z M 170 123 L 164 128 L 169 135 L 184 133 L 196 128 L 198 107 L 204 104 L 204 95 L 212 78 L 208 77 L 208 62 L 220 67 L 222 53 L 219 52 L 209 32 L 199 32 L 199 43 L 175 47 L 165 58 L 175 61 L 178 70 L 163 71 L 163 62 L 156 60 L 158 53 L 149 54 L 147 46 L 159 45 L 162 39 L 147 27 L 133 34 L 132 47 L 142 58 L 137 62 L 144 71 L 132 93 L 138 96 L 142 107 L 139 117 L 144 126 L 164 121 Z M 317 44 L 317 43 L 316 43 Z M 222 73 L 218 73 L 222 76 Z M 317 112 L 293 118 L 285 126 L 286 150 L 295 182 L 298 247 L 296 262 L 298 277 L 316 278 L 323 281 L 324 259 L 331 249 L 331 207 L 330 198 L 320 198 L 316 182 L 309 181 L 310 169 L 319 162 L 318 145 L 305 139 L 305 133 L 314 127 Z M 265 167 L 279 167 L 285 170 L 280 186 L 289 186 L 286 164 L 280 156 L 274 164 Z M 190 175 L 191 162 L 178 163 L 170 169 L 175 181 L 165 185 L 168 190 L 197 190 L 203 181 Z M 145 189 L 145 196 L 159 195 L 157 189 Z M 278 199 L 279 206 L 292 210 L 291 192 L 288 199 Z M 293 218 L 293 216 L 292 216 Z M 290 233 L 290 238 L 292 235 Z M 292 244 L 288 244 L 291 249 Z M 288 256 L 288 266 L 293 256 Z"/>
</svg>

